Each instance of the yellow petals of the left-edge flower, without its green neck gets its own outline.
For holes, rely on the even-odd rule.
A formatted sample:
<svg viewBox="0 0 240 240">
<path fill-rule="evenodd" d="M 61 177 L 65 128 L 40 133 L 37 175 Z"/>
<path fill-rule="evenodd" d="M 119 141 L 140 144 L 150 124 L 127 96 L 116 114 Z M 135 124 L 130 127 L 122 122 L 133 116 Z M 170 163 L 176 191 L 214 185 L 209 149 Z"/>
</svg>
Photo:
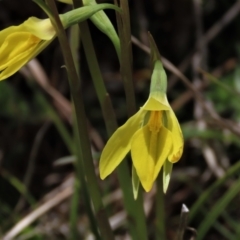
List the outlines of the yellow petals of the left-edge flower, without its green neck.
<svg viewBox="0 0 240 240">
<path fill-rule="evenodd" d="M 0 80 L 17 72 L 40 53 L 55 34 L 49 19 L 35 17 L 0 31 Z"/>
</svg>

